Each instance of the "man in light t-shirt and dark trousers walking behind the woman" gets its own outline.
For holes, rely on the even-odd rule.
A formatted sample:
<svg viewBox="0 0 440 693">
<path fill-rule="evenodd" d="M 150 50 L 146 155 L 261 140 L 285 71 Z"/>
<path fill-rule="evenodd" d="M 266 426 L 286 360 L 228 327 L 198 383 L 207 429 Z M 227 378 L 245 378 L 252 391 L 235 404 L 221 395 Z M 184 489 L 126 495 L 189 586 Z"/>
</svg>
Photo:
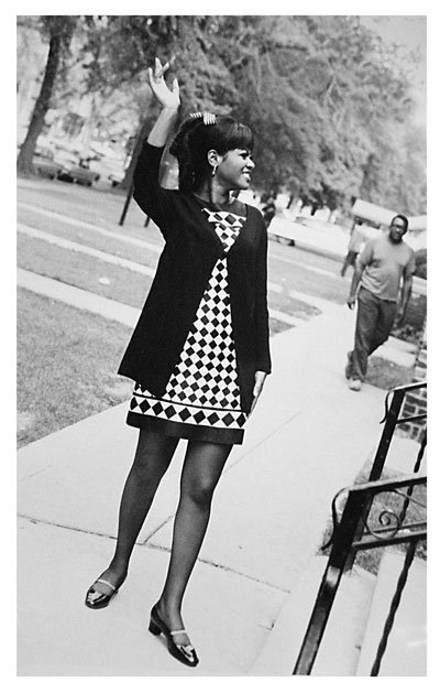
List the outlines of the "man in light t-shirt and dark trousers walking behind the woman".
<svg viewBox="0 0 440 693">
<path fill-rule="evenodd" d="M 408 219 L 396 215 L 386 234 L 369 240 L 360 253 L 346 304 L 358 316 L 354 349 L 349 353 L 345 377 L 351 390 L 360 390 L 365 380 L 367 359 L 389 336 L 393 324 L 402 322 L 413 286 L 415 253 L 403 237 Z"/>
</svg>

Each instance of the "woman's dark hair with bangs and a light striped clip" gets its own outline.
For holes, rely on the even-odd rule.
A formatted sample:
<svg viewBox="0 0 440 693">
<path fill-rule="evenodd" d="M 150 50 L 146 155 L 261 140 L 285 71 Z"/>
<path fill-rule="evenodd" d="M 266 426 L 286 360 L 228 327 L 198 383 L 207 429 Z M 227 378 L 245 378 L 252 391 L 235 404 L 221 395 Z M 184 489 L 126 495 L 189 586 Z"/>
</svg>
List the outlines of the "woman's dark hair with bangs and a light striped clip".
<svg viewBox="0 0 440 693">
<path fill-rule="evenodd" d="M 174 138 L 169 153 L 179 166 L 179 190 L 193 192 L 211 175 L 208 152 L 215 149 L 226 154 L 231 149 L 252 151 L 253 134 L 248 126 L 230 116 L 217 116 L 215 124 L 205 124 L 202 117 L 188 118 Z"/>
</svg>

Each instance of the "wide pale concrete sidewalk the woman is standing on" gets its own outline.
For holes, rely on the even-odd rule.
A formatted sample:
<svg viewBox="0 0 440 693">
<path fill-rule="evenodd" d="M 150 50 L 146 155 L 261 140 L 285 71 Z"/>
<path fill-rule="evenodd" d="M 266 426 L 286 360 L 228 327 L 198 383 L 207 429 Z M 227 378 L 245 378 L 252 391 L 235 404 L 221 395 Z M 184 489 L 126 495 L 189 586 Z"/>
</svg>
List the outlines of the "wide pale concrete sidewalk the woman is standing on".
<svg viewBox="0 0 440 693">
<path fill-rule="evenodd" d="M 354 314 L 334 305 L 272 340 L 274 372 L 216 492 L 184 604 L 200 658 L 195 670 L 147 632 L 167 566 L 184 445 L 130 575 L 101 611 L 87 609 L 84 596 L 114 545 L 136 442 L 124 424 L 127 404 L 19 452 L 19 675 L 249 674 L 319 546 L 333 496 L 352 483 L 382 432 L 385 392 L 352 392 L 343 377 L 353 329 Z"/>
</svg>

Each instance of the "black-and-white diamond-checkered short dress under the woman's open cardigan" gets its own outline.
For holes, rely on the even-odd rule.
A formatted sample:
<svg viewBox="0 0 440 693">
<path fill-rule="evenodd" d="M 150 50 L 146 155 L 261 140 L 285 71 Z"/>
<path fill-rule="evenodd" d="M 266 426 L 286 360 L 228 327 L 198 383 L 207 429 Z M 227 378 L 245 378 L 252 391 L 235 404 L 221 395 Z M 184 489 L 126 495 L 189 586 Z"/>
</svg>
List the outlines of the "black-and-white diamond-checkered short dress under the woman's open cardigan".
<svg viewBox="0 0 440 693">
<path fill-rule="evenodd" d="M 206 207 L 204 212 L 228 253 L 245 217 Z M 164 396 L 157 398 L 136 382 L 128 422 L 177 437 L 241 443 L 245 420 L 240 405 L 224 255 L 212 270 Z"/>
</svg>

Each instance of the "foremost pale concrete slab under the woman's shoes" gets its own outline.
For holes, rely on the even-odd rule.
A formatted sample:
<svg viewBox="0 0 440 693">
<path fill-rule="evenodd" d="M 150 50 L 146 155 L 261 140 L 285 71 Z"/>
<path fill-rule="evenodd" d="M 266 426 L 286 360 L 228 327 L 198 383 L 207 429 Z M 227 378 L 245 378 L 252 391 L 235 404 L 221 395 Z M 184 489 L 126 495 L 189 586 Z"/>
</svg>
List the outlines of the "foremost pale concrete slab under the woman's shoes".
<svg viewBox="0 0 440 693">
<path fill-rule="evenodd" d="M 109 540 L 48 523 L 19 520 L 18 673 L 21 676 L 241 675 L 252 664 L 285 595 L 200 564 L 188 586 L 185 622 L 200 657 L 189 669 L 164 639 L 147 631 L 167 554 L 140 548 L 130 575 L 101 610 L 84 605 L 90 575 Z"/>
</svg>

